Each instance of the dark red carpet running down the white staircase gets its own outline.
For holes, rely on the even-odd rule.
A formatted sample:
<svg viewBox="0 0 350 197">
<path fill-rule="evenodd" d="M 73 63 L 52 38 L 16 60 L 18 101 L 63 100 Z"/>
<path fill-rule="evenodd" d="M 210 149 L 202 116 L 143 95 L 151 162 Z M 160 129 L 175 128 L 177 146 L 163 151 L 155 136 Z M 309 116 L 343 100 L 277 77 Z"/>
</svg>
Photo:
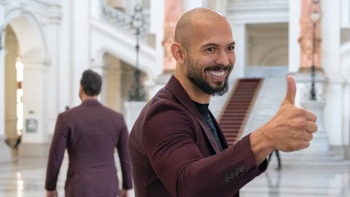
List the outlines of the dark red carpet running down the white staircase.
<svg viewBox="0 0 350 197">
<path fill-rule="evenodd" d="M 237 79 L 231 97 L 226 101 L 218 122 L 229 146 L 240 139 L 261 82 L 262 79 Z"/>
</svg>

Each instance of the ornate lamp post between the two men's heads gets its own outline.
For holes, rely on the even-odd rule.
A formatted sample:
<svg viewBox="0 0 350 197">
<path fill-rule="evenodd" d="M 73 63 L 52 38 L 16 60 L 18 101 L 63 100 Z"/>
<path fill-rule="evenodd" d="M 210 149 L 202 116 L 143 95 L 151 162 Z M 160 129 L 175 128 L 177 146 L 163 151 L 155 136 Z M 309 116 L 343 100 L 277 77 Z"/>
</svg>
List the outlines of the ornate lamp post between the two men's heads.
<svg viewBox="0 0 350 197">
<path fill-rule="evenodd" d="M 142 15 L 142 6 L 137 4 L 134 8 L 134 14 L 131 21 L 131 27 L 136 29 L 136 65 L 134 71 L 135 84 L 131 86 L 129 91 L 129 101 L 145 101 L 146 100 L 146 91 L 144 86 L 140 84 L 140 70 L 139 70 L 139 38 L 140 38 L 140 29 L 145 25 L 145 19 Z"/>
</svg>

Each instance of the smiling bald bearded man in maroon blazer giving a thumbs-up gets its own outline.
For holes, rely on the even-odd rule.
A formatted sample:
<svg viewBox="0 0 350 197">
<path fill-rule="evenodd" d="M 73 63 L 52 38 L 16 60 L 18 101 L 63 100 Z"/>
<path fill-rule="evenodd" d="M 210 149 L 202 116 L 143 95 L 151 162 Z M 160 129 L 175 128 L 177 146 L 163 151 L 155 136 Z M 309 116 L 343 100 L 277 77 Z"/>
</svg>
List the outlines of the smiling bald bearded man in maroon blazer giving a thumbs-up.
<svg viewBox="0 0 350 197">
<path fill-rule="evenodd" d="M 296 86 L 290 76 L 278 113 L 228 146 L 208 109 L 211 96 L 228 91 L 236 61 L 223 14 L 205 7 L 185 13 L 171 51 L 175 73 L 144 107 L 128 141 L 135 196 L 237 197 L 266 170 L 272 151 L 309 146 L 316 116 L 294 106 Z"/>
</svg>

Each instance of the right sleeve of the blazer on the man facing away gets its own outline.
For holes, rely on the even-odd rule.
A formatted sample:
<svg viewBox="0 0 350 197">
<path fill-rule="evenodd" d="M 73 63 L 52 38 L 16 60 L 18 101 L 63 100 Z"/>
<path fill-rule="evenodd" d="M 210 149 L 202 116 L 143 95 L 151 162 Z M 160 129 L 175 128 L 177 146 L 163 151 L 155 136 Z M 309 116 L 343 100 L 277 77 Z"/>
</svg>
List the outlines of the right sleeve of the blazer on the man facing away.
<svg viewBox="0 0 350 197">
<path fill-rule="evenodd" d="M 122 127 L 119 133 L 119 139 L 117 144 L 117 150 L 119 155 L 120 167 L 123 176 L 123 189 L 132 188 L 132 176 L 131 176 L 131 162 L 128 151 L 128 137 L 129 132 L 124 121 L 121 117 Z"/>
</svg>

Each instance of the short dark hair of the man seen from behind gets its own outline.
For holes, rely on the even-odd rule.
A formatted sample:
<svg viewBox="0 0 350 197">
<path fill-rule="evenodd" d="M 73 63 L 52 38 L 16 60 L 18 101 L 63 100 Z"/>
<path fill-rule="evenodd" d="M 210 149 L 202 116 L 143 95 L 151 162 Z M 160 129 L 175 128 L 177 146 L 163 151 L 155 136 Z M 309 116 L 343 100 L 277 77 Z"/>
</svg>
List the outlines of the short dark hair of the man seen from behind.
<svg viewBox="0 0 350 197">
<path fill-rule="evenodd" d="M 80 85 L 87 96 L 98 95 L 101 91 L 102 77 L 92 70 L 85 70 Z"/>
</svg>

